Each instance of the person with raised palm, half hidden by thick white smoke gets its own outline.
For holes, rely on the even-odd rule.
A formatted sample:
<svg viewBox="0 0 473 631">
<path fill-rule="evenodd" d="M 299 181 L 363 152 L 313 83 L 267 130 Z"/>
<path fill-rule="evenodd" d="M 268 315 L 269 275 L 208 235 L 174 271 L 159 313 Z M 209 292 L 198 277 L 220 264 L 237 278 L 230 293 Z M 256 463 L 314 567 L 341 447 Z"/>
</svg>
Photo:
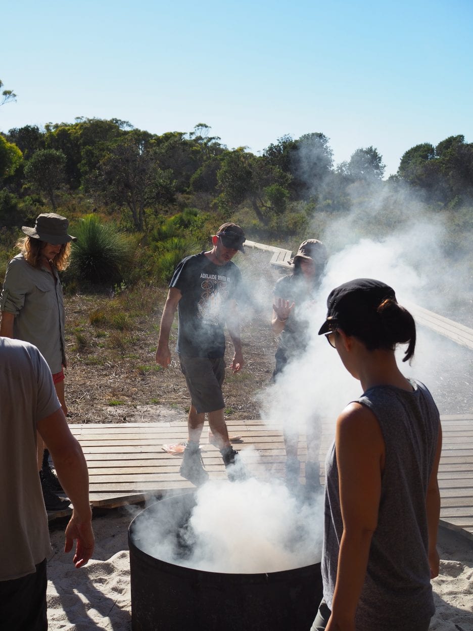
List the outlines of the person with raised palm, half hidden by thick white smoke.
<svg viewBox="0 0 473 631">
<path fill-rule="evenodd" d="M 288 276 L 279 278 L 274 287 L 271 326 L 279 335 L 276 368 L 272 375 L 283 372 L 286 365 L 302 357 L 307 348 L 308 322 L 301 315 L 304 303 L 313 300 L 318 290 L 327 262 L 325 245 L 317 239 L 303 241 L 290 261 L 294 269 Z M 308 459 L 305 463 L 305 484 L 308 492 L 320 490 L 320 428 L 317 423 L 307 427 Z M 301 463 L 298 459 L 299 433 L 293 424 L 286 422 L 283 427 L 286 448 L 286 481 L 289 488 L 298 488 Z"/>
</svg>

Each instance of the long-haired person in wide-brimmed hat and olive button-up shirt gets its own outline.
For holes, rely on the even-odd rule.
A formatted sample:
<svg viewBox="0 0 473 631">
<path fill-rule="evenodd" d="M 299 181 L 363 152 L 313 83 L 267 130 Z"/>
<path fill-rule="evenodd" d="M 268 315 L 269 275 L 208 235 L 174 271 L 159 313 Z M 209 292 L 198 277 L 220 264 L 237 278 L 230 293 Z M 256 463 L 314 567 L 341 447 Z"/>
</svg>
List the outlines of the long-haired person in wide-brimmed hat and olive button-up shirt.
<svg viewBox="0 0 473 631">
<path fill-rule="evenodd" d="M 35 226 L 23 226 L 26 237 L 16 244 L 20 254 L 9 261 L 0 295 L 2 314 L 0 336 L 21 339 L 37 346 L 52 372 L 54 386 L 64 414 L 66 341 L 64 338 L 64 297 L 58 271 L 66 269 L 71 245 L 69 221 L 55 213 L 38 215 Z M 38 464 L 48 510 L 69 506 L 55 495 L 61 492 L 52 473 L 48 452 L 38 436 Z"/>
</svg>

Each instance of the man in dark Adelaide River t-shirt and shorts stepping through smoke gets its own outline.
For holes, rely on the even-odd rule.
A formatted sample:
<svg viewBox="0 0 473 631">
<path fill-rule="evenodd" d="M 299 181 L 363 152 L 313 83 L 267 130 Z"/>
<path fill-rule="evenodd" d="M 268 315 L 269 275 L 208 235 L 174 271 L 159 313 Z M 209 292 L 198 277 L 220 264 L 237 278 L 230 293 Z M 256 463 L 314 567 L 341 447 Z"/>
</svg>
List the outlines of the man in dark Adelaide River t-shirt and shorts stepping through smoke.
<svg viewBox="0 0 473 631">
<path fill-rule="evenodd" d="M 184 451 L 180 475 L 196 485 L 208 474 L 202 466 L 199 441 L 208 415 L 225 466 L 235 465 L 237 452 L 228 438 L 221 386 L 225 377 L 225 324 L 235 354 L 231 370 L 243 366 L 237 301 L 241 273 L 231 259 L 244 252 L 245 233 L 236 223 L 224 223 L 212 237 L 213 248 L 183 259 L 174 271 L 161 317 L 156 362 L 166 368 L 171 362 L 169 334 L 178 310 L 177 353 L 189 389 L 189 441 Z M 229 478 L 238 476 L 228 469 Z"/>
</svg>

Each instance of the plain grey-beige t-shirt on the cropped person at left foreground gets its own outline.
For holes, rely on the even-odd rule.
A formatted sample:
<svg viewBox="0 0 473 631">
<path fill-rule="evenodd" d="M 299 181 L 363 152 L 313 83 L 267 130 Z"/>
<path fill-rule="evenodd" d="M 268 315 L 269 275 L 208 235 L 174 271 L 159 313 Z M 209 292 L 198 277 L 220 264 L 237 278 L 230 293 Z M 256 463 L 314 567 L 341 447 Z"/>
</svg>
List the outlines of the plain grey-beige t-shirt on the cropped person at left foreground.
<svg viewBox="0 0 473 631">
<path fill-rule="evenodd" d="M 0 400 L 0 581 L 11 581 L 32 574 L 52 554 L 38 476 L 37 423 L 61 404 L 35 346 L 0 338 Z"/>
</svg>

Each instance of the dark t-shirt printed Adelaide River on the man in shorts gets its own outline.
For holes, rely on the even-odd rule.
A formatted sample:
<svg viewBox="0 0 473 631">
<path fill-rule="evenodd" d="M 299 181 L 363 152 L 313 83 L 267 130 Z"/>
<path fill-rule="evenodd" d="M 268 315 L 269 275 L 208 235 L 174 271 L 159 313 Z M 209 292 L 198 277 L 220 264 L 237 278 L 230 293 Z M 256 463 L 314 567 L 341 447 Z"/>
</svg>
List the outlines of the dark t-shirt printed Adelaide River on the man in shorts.
<svg viewBox="0 0 473 631">
<path fill-rule="evenodd" d="M 182 293 L 178 304 L 177 352 L 185 357 L 223 357 L 224 326 L 230 300 L 237 300 L 242 274 L 229 261 L 214 265 L 204 252 L 183 259 L 170 287 Z"/>
</svg>

